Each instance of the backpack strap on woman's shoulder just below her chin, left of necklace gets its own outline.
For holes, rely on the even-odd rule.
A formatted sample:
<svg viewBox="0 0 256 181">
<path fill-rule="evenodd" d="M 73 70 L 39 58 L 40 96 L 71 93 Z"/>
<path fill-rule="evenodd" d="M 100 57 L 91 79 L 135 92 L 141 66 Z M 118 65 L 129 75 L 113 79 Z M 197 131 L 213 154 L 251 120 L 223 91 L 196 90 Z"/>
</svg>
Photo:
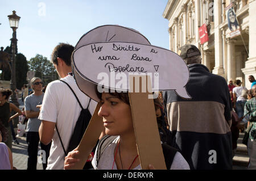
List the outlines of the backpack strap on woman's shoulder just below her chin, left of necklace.
<svg viewBox="0 0 256 181">
<path fill-rule="evenodd" d="M 102 137 L 100 139 L 100 141 L 98 142 L 98 148 L 97 148 L 97 153 L 96 153 L 96 163 L 98 165 L 98 161 L 100 161 L 101 155 L 104 152 L 104 150 L 109 146 L 109 144 L 111 144 L 115 138 L 117 138 L 118 136 L 109 136 L 109 135 L 105 135 L 104 137 Z"/>
</svg>

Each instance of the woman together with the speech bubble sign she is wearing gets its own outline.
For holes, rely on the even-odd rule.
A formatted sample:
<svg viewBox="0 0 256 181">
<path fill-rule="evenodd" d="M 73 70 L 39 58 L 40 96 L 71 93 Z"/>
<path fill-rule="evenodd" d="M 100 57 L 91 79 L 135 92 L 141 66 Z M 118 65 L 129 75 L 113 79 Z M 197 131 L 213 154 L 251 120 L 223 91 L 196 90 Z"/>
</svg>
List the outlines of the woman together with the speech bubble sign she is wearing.
<svg viewBox="0 0 256 181">
<path fill-rule="evenodd" d="M 133 75 L 144 73 L 142 81 L 146 81 L 146 76 L 154 75 L 155 78 L 143 83 L 138 81 L 141 82 L 138 86 L 143 85 L 145 90 L 148 87 L 154 87 L 153 91 L 175 90 L 189 98 L 184 87 L 189 71 L 181 57 L 152 46 L 134 29 L 105 25 L 81 37 L 72 54 L 72 66 L 79 88 L 99 103 L 80 145 L 65 157 L 64 169 L 81 168 L 84 155 L 88 155 L 90 146 L 95 145 L 102 125 L 107 136 L 98 142 L 92 161 L 94 169 L 154 169 L 148 165 L 150 163 L 155 169 L 189 169 L 176 149 L 160 144 L 156 109 L 152 97 L 149 98 L 152 94 L 148 94 L 149 90 L 146 93 L 137 92 L 137 89 L 131 91 L 131 87 L 137 88 L 136 81 L 134 86 L 131 81 L 135 78 Z M 173 76 L 166 74 L 164 68 Z M 172 81 L 170 77 L 174 77 Z"/>
</svg>

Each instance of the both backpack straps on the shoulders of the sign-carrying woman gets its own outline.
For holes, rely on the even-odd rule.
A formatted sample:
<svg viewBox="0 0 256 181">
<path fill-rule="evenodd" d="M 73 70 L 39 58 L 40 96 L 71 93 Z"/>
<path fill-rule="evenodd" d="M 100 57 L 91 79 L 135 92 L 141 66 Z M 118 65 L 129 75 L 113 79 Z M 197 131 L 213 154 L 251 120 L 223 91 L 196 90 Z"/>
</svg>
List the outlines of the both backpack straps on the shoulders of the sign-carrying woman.
<svg viewBox="0 0 256 181">
<path fill-rule="evenodd" d="M 101 138 L 101 140 L 98 142 L 98 148 L 96 153 L 96 165 L 98 165 L 98 162 L 100 161 L 101 155 L 104 152 L 106 148 L 117 138 L 118 136 L 108 136 L 105 135 Z M 163 154 L 164 154 L 164 161 L 166 162 L 166 168 L 170 170 L 172 161 L 174 161 L 175 154 L 177 152 L 177 149 L 173 148 L 170 145 L 167 145 L 165 143 L 162 144 L 163 148 Z"/>
</svg>

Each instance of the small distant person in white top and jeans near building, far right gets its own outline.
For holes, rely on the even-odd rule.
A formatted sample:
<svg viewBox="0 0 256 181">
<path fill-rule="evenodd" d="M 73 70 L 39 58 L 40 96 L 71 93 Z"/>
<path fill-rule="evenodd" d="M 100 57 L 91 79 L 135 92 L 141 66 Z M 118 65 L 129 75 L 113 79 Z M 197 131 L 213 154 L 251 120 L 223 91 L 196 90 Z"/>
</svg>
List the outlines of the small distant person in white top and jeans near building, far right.
<svg viewBox="0 0 256 181">
<path fill-rule="evenodd" d="M 243 108 L 245 107 L 246 102 L 246 91 L 247 89 L 242 85 L 242 82 L 240 79 L 236 80 L 236 87 L 233 89 L 233 96 L 234 96 L 234 109 L 236 110 L 236 113 L 238 117 L 243 116 Z"/>
</svg>

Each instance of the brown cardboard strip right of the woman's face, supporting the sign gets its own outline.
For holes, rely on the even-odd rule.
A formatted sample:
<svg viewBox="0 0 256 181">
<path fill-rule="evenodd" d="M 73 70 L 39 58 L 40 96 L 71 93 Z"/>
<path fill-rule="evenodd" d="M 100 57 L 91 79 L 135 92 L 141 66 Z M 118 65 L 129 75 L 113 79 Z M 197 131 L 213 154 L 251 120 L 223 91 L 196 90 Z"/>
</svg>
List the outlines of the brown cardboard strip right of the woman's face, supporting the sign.
<svg viewBox="0 0 256 181">
<path fill-rule="evenodd" d="M 139 85 L 135 85 L 134 77 L 135 79 L 138 79 L 138 77 L 142 76 L 131 75 L 129 77 L 130 87 L 132 86 L 135 88 L 136 86 L 140 86 L 139 89 L 137 87 L 137 90 L 140 90 L 140 92 L 135 92 L 134 90 L 129 92 L 131 115 L 133 117 L 139 160 L 142 169 L 148 169 L 148 164 L 151 164 L 155 169 L 166 170 L 156 121 L 154 100 L 148 99 L 148 95 L 151 94 L 149 92 L 152 92 L 151 82 L 143 81 L 145 80 L 143 77 L 140 78 L 141 81 L 139 81 Z M 147 76 L 147 79 L 150 79 L 150 77 Z M 147 86 L 146 92 L 143 92 L 143 86 Z"/>
</svg>

